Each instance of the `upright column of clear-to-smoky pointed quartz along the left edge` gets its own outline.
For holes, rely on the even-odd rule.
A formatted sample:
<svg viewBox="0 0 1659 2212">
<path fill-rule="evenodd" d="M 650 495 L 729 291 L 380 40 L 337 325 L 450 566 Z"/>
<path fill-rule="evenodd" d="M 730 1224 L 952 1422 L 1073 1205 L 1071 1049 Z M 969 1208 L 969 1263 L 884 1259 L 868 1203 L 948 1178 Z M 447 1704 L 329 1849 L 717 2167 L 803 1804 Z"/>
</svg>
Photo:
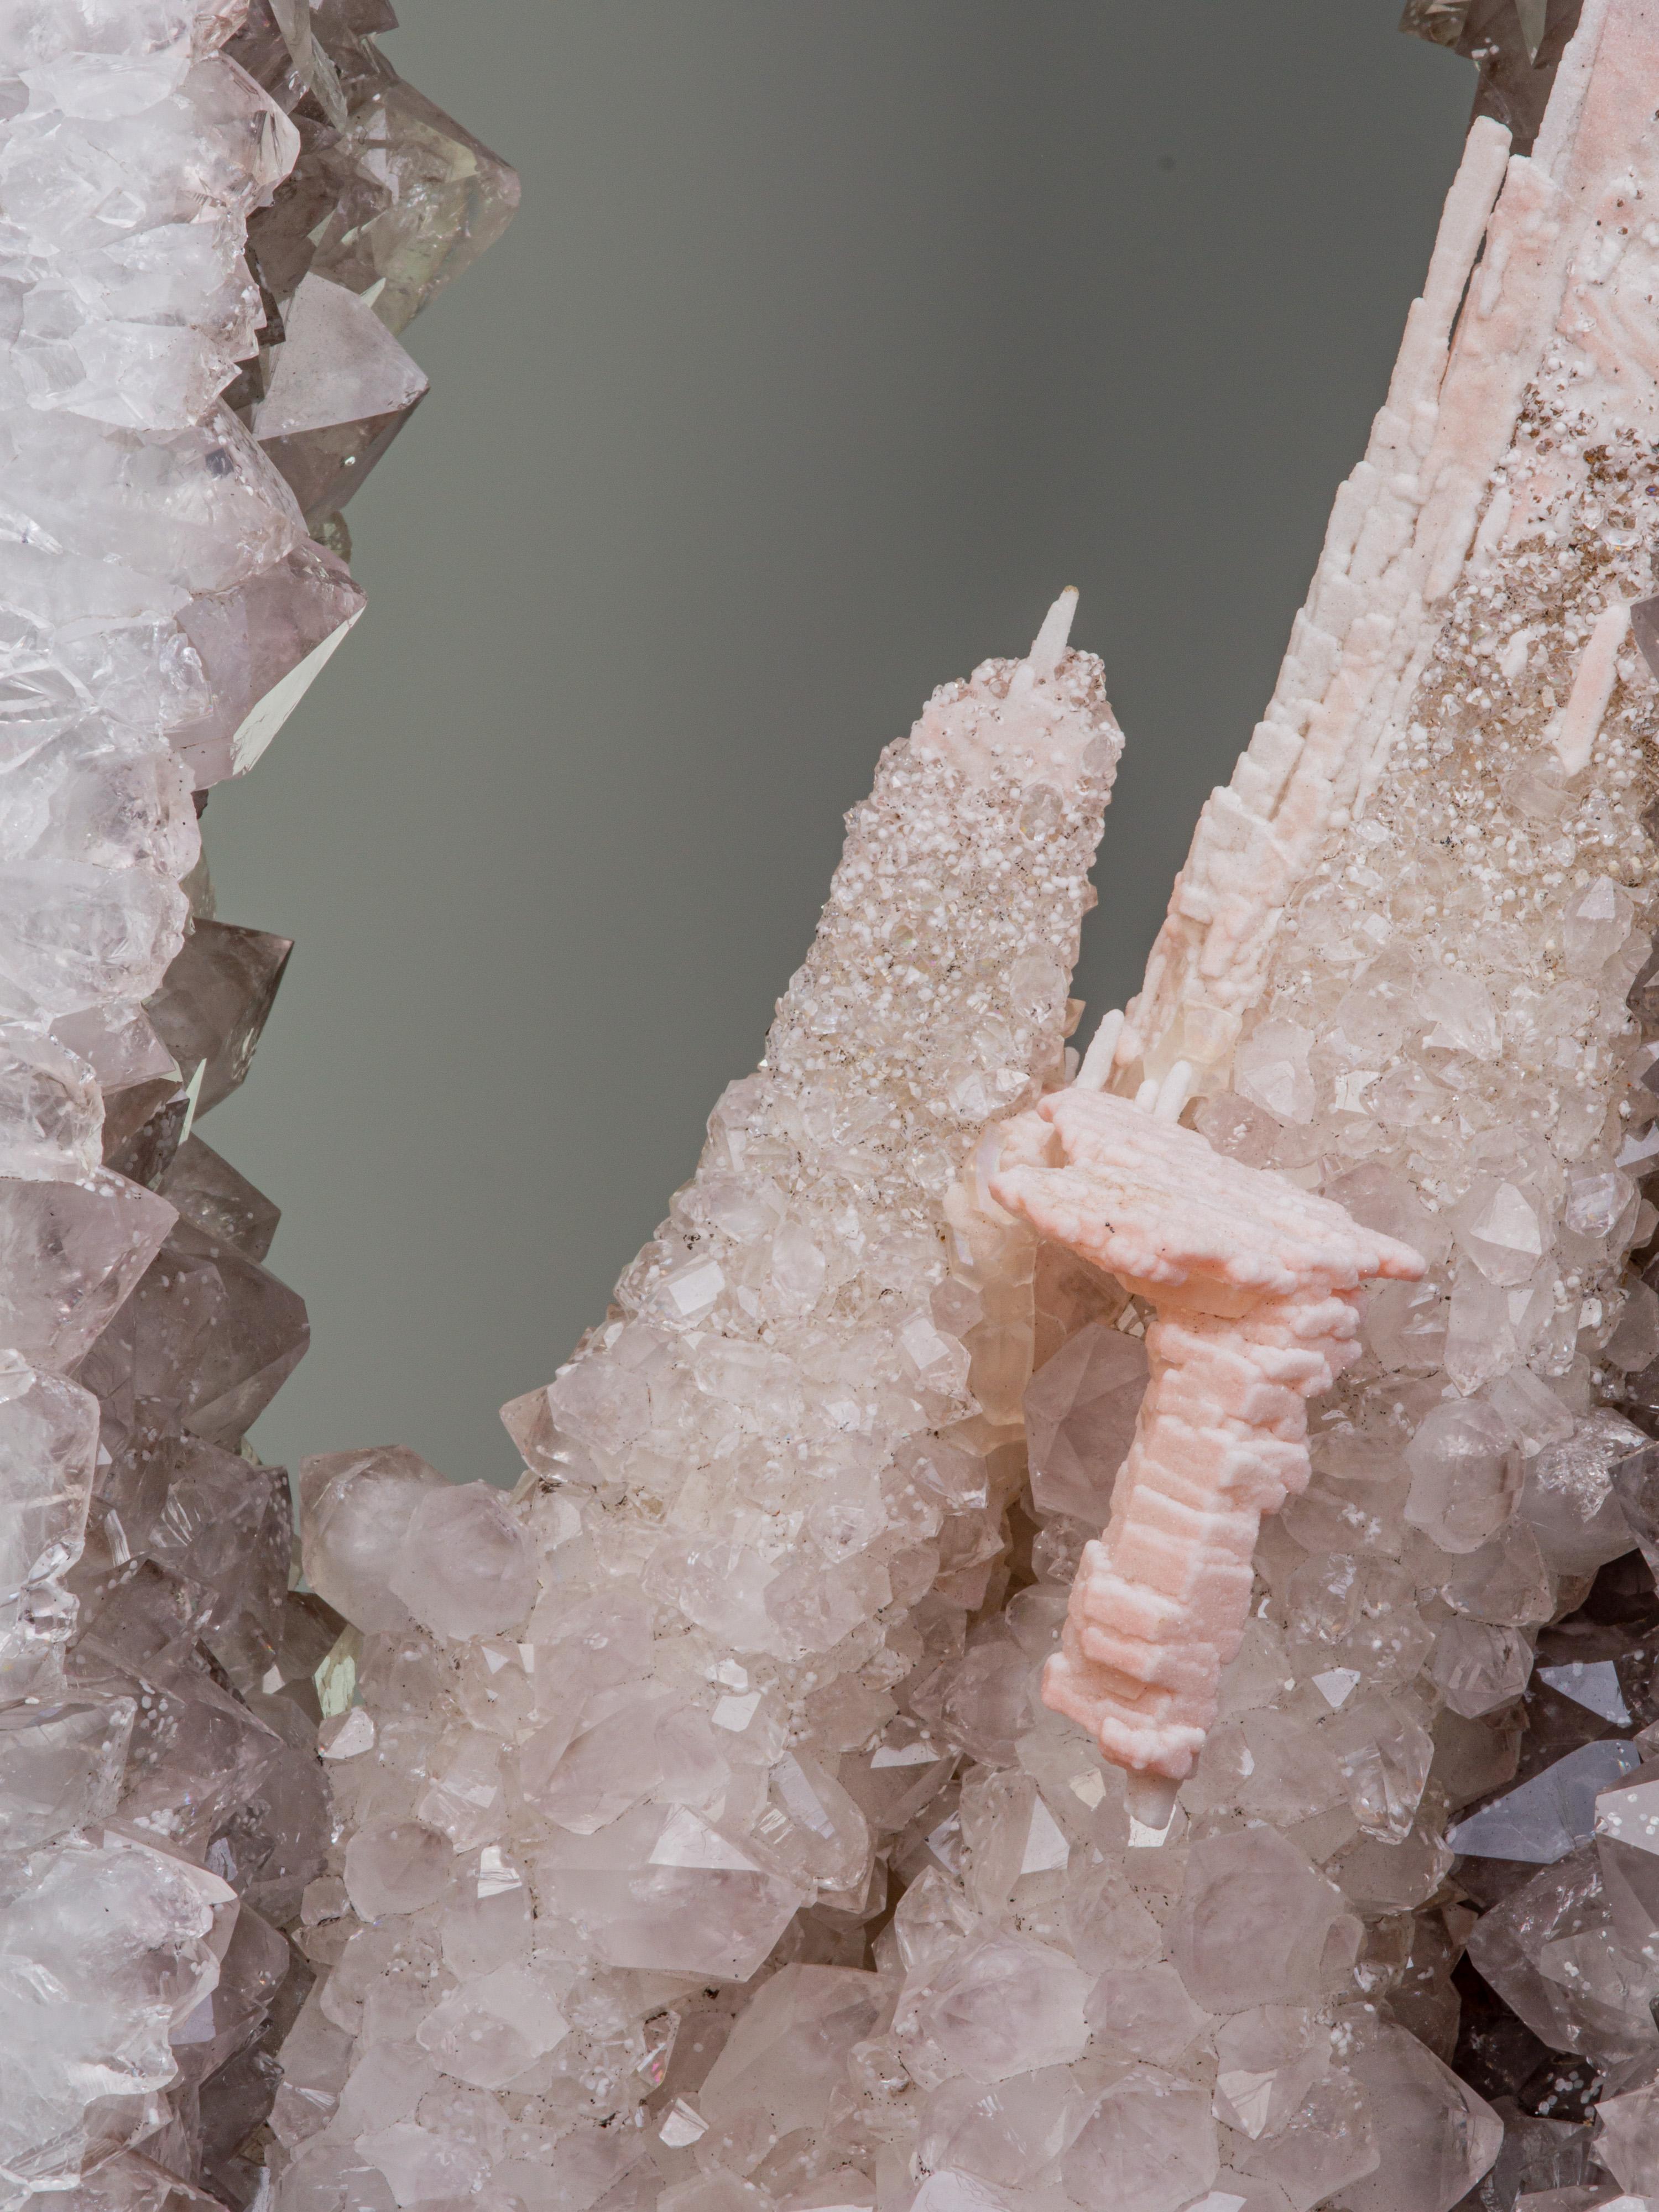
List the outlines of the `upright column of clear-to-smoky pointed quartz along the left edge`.
<svg viewBox="0 0 1659 2212">
<path fill-rule="evenodd" d="M 392 327 L 511 208 L 389 22 L 0 7 L 4 2205 L 250 2205 L 312 1973 L 343 1624 L 243 1444 L 305 1310 L 195 1135 L 290 947 L 217 920 L 197 821 L 361 611 L 334 511 L 418 385 Z"/>
</svg>

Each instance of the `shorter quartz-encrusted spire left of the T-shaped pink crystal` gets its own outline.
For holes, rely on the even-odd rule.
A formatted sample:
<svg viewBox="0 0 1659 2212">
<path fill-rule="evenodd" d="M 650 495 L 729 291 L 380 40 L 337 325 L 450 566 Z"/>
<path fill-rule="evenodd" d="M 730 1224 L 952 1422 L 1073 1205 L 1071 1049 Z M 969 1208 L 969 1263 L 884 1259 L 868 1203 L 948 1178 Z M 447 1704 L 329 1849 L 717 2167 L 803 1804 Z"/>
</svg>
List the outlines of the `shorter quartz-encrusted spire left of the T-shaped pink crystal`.
<svg viewBox="0 0 1659 2212">
<path fill-rule="evenodd" d="M 728 2132 L 743 2172 L 792 2139 L 790 2194 L 869 2150 L 836 2128 L 889 2011 L 863 1924 L 953 1767 L 894 1692 L 995 1610 L 1022 1478 L 1031 1290 L 947 1279 L 982 1241 L 956 1175 L 1064 1077 L 1119 752 L 1073 602 L 883 757 L 761 1071 L 611 1321 L 507 1409 L 511 1504 L 405 1451 L 301 1473 L 361 1705 L 327 1723 L 283 2205 L 697 2197 Z M 1071 2022 L 1009 1960 L 1009 2020 Z"/>
</svg>

